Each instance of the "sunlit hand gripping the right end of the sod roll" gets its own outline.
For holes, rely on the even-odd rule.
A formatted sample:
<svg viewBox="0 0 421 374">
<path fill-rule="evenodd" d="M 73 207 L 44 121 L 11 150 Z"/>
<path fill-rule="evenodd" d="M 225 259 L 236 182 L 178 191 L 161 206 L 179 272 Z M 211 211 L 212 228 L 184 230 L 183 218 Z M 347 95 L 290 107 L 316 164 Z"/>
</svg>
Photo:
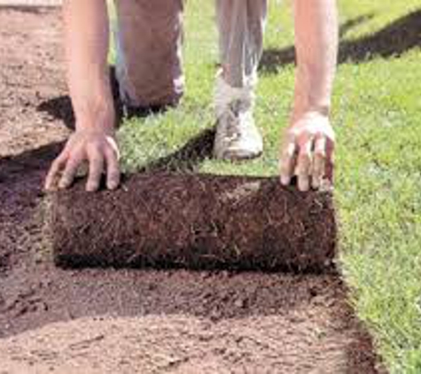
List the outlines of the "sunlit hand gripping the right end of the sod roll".
<svg viewBox="0 0 421 374">
<path fill-rule="evenodd" d="M 285 130 L 279 168 L 281 183 L 297 175 L 300 191 L 318 189 L 324 179 L 333 183 L 335 133 L 327 115 L 308 112 Z"/>
</svg>

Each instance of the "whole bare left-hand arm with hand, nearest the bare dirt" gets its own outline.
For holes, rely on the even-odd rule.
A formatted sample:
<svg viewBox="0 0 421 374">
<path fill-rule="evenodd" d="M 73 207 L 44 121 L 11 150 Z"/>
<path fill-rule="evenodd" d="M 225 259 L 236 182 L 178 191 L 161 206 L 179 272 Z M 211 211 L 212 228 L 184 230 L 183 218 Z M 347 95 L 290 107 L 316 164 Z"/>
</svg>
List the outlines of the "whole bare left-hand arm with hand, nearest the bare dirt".
<svg viewBox="0 0 421 374">
<path fill-rule="evenodd" d="M 120 180 L 118 149 L 114 140 L 115 113 L 109 81 L 107 53 L 108 14 L 105 0 L 65 0 L 65 49 L 67 84 L 74 106 L 76 131 L 58 156 L 46 180 L 46 188 L 71 185 L 77 168 L 88 161 L 87 190 L 97 190 L 107 170 L 107 187 Z"/>
</svg>

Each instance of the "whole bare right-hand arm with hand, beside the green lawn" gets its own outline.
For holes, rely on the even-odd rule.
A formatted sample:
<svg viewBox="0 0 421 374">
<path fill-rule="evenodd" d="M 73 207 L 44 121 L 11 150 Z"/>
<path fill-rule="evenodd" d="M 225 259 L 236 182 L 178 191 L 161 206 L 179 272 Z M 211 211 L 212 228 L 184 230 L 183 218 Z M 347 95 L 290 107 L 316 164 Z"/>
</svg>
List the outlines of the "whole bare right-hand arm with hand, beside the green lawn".
<svg viewBox="0 0 421 374">
<path fill-rule="evenodd" d="M 281 181 L 294 172 L 301 191 L 331 179 L 334 133 L 329 114 L 338 54 L 335 0 L 295 0 L 297 75 L 290 127 L 281 155 Z"/>
</svg>

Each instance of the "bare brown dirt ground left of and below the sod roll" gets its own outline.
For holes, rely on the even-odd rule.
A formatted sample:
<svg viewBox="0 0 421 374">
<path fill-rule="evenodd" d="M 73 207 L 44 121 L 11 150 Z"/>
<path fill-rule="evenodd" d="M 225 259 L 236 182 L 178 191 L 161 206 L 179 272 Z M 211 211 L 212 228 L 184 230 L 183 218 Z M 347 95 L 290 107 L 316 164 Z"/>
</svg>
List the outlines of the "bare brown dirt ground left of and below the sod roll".
<svg viewBox="0 0 421 374">
<path fill-rule="evenodd" d="M 0 8 L 0 372 L 379 372 L 333 275 L 53 266 L 38 205 L 68 134 L 59 35 L 57 11 Z"/>
</svg>

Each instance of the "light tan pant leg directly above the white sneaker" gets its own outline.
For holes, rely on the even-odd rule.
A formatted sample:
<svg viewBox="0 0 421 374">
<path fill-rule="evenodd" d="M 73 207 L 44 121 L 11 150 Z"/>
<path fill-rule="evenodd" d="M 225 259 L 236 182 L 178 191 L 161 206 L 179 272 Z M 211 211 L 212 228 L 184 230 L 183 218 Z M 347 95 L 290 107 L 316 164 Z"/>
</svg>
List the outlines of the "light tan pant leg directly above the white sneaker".
<svg viewBox="0 0 421 374">
<path fill-rule="evenodd" d="M 223 76 L 232 87 L 244 87 L 257 74 L 267 5 L 267 0 L 216 0 Z"/>
</svg>

